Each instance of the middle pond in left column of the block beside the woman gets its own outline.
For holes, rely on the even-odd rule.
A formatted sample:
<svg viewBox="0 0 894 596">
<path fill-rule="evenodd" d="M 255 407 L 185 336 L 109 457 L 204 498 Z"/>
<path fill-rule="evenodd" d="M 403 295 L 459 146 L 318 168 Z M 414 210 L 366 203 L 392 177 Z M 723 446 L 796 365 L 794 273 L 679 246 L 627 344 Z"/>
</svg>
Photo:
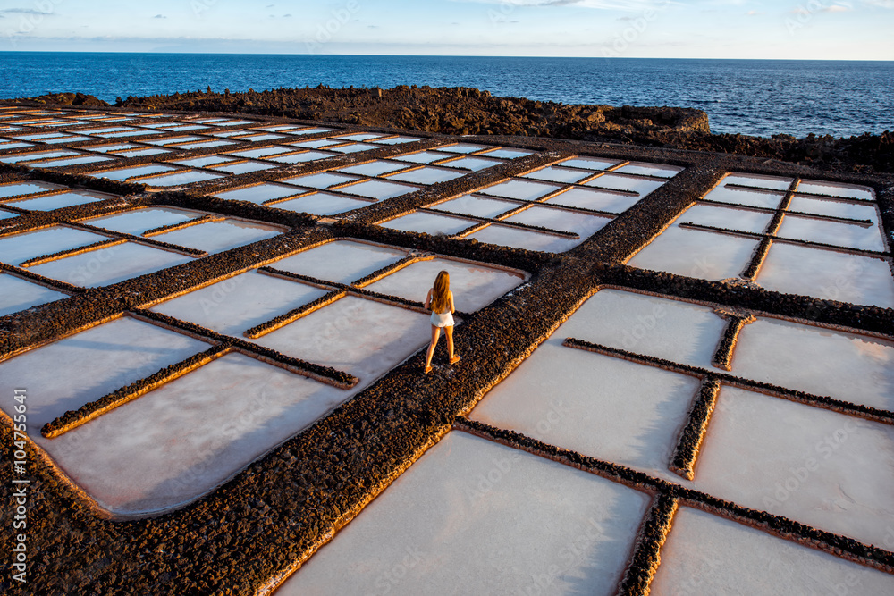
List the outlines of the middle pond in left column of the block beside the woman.
<svg viewBox="0 0 894 596">
<path fill-rule="evenodd" d="M 299 281 L 249 271 L 167 300 L 152 310 L 215 332 L 241 335 L 325 293 Z"/>
</svg>

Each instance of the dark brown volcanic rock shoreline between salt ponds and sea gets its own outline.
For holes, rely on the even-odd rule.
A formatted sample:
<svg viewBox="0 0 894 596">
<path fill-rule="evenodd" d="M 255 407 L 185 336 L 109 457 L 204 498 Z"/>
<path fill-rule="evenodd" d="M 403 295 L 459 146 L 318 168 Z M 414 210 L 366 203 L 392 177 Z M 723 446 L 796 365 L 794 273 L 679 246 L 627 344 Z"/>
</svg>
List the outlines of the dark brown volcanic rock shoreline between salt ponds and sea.
<svg viewBox="0 0 894 596">
<path fill-rule="evenodd" d="M 108 106 L 82 93 L 18 100 L 24 105 Z M 566 105 L 493 97 L 475 88 L 279 88 L 246 93 L 191 91 L 118 98 L 114 106 L 164 111 L 240 113 L 425 130 L 611 142 L 764 157 L 827 171 L 894 172 L 894 131 L 849 139 L 808 135 L 771 139 L 713 134 L 701 110 L 681 107 Z"/>
</svg>

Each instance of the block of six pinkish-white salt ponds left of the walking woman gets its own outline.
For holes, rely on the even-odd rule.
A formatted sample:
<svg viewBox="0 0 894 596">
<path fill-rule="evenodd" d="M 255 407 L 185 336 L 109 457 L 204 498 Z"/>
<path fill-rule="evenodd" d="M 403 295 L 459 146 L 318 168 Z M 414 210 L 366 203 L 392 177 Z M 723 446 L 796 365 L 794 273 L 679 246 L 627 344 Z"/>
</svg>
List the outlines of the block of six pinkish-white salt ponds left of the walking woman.
<svg viewBox="0 0 894 596">
<path fill-rule="evenodd" d="M 133 222 L 118 223 L 133 229 Z M 272 266 L 350 283 L 407 255 L 398 248 L 338 240 Z M 441 269 L 451 272 L 452 287 L 462 297 L 457 306 L 465 312 L 486 306 L 526 280 L 519 272 L 436 257 L 409 264 L 367 288 L 421 302 Z M 326 291 L 249 271 L 153 310 L 241 336 Z M 356 375 L 359 382 L 350 390 L 230 353 L 55 439 L 42 437 L 39 428 L 210 346 L 124 317 L 0 362 L 0 387 L 6 389 L 12 379 L 28 382 L 36 396 L 30 401 L 30 436 L 102 507 L 139 515 L 213 490 L 424 348 L 429 328 L 426 314 L 350 295 L 254 340 L 287 356 Z M 436 365 L 441 365 L 441 356 Z M 99 370 L 90 365 L 96 362 L 103 363 Z M 56 374 L 44 374 L 49 363 Z"/>
</svg>

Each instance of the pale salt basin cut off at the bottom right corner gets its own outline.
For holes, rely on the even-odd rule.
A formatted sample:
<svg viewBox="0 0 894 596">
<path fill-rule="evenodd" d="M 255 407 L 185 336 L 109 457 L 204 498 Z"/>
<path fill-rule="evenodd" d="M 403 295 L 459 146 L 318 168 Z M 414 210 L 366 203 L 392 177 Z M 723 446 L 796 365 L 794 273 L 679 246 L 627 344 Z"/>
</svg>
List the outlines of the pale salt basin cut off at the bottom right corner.
<svg viewBox="0 0 894 596">
<path fill-rule="evenodd" d="M 662 546 L 654 594 L 890 594 L 894 575 L 681 507 Z M 854 592 L 852 592 L 852 590 Z"/>
</svg>

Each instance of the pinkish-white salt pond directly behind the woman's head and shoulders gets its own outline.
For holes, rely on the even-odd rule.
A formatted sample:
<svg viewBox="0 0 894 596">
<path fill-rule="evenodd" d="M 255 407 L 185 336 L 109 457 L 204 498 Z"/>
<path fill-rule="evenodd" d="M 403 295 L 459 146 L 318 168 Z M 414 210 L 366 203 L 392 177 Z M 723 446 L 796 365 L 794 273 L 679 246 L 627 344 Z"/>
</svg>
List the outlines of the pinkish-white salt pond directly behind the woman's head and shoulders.
<svg viewBox="0 0 894 596">
<path fill-rule="evenodd" d="M 409 264 L 369 284 L 366 289 L 425 302 L 426 292 L 432 287 L 434 278 L 441 271 L 446 271 L 450 275 L 453 305 L 456 310 L 465 313 L 484 308 L 527 280 L 524 273 L 437 257 Z"/>
</svg>

